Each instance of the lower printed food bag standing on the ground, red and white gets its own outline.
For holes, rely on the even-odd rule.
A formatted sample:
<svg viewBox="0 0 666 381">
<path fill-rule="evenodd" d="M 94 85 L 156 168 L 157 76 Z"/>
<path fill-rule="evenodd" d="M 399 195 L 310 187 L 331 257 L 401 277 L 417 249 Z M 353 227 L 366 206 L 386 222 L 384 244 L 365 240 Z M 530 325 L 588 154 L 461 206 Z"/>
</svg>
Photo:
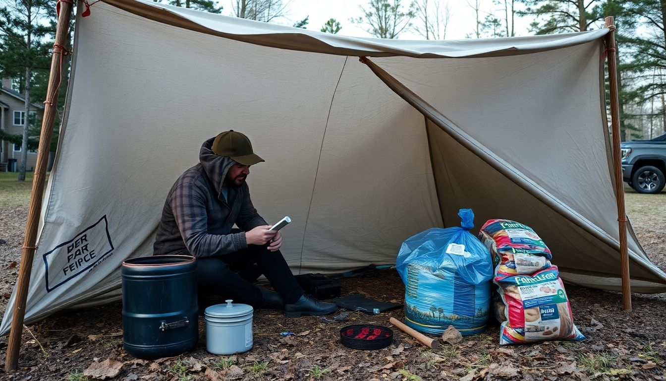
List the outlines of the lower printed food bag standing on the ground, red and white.
<svg viewBox="0 0 666 381">
<path fill-rule="evenodd" d="M 498 274 L 494 282 L 503 302 L 503 306 L 494 304 L 496 317 L 502 322 L 500 345 L 585 338 L 573 324 L 557 266 L 531 275 Z"/>
</svg>

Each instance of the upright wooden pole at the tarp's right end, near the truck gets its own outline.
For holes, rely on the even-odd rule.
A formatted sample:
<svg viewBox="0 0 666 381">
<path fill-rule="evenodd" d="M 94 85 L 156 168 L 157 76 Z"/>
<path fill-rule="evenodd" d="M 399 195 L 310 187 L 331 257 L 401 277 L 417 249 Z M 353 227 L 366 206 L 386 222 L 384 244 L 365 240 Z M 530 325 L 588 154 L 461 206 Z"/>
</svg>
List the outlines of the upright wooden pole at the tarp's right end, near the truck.
<svg viewBox="0 0 666 381">
<path fill-rule="evenodd" d="M 606 17 L 606 59 L 608 60 L 608 83 L 611 92 L 611 125 L 613 125 L 613 169 L 615 171 L 615 196 L 617 198 L 617 224 L 620 233 L 620 261 L 622 274 L 622 305 L 631 311 L 631 285 L 629 284 L 629 252 L 627 252 L 627 212 L 624 204 L 624 182 L 620 150 L 620 109 L 617 100 L 617 67 L 615 66 L 615 25 L 613 16 Z"/>
</svg>

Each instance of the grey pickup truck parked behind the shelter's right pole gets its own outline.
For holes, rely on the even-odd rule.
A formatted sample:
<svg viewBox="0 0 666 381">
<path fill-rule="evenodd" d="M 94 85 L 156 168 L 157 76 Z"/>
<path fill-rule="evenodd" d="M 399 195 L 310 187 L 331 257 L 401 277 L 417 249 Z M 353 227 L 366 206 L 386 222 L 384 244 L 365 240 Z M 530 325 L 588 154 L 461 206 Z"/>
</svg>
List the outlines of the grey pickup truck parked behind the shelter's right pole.
<svg viewBox="0 0 666 381">
<path fill-rule="evenodd" d="M 666 133 L 621 144 L 622 177 L 636 192 L 656 194 L 666 185 Z"/>
</svg>

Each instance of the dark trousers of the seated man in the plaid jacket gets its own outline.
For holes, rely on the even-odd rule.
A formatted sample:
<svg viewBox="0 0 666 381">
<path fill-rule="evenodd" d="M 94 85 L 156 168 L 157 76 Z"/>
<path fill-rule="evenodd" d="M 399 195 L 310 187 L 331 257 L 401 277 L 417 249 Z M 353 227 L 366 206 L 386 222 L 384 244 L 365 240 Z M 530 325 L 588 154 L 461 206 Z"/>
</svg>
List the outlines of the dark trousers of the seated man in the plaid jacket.
<svg viewBox="0 0 666 381">
<path fill-rule="evenodd" d="M 303 295 L 280 251 L 270 252 L 266 246 L 250 245 L 224 256 L 196 259 L 199 307 L 205 308 L 210 296 L 262 307 L 261 291 L 252 284 L 262 274 L 286 304 L 295 303 Z"/>
</svg>

